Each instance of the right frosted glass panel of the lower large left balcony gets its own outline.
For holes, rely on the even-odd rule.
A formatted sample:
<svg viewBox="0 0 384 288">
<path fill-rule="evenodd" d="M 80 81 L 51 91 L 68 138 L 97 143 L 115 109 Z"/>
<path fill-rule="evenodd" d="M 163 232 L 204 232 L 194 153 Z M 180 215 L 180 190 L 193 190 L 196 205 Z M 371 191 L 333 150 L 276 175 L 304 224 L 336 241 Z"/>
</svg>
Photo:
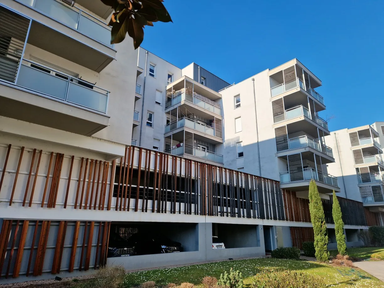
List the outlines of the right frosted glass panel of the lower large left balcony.
<svg viewBox="0 0 384 288">
<path fill-rule="evenodd" d="M 107 110 L 106 94 L 99 93 L 93 89 L 70 82 L 68 87 L 67 101 L 106 113 Z"/>
</svg>

